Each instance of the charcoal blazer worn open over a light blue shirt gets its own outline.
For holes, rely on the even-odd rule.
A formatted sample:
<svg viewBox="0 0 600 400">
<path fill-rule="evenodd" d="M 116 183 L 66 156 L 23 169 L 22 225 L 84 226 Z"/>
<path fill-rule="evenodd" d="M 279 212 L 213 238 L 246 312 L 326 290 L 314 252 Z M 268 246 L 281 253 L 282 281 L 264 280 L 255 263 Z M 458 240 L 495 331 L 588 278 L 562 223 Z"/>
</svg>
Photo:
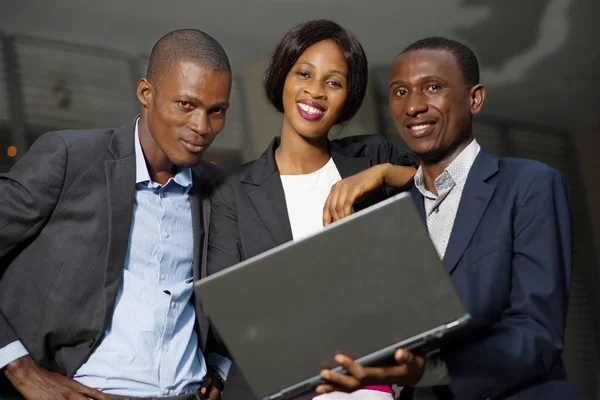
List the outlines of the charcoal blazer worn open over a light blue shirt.
<svg viewBox="0 0 600 400">
<path fill-rule="evenodd" d="M 123 274 L 135 166 L 129 124 L 47 133 L 0 174 L 0 348 L 20 340 L 40 366 L 69 377 L 94 351 Z M 206 275 L 207 191 L 219 172 L 202 162 L 192 174 L 194 279 Z M 198 302 L 196 314 L 204 351 L 209 324 Z M 0 398 L 19 398 L 0 375 Z"/>
</svg>

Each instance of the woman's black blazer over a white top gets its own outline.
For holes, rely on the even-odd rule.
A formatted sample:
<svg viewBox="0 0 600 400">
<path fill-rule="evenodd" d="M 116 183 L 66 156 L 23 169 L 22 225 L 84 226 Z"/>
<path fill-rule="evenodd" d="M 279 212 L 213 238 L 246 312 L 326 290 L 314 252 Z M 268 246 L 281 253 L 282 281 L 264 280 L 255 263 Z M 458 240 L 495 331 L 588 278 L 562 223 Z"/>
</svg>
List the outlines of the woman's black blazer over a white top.
<svg viewBox="0 0 600 400">
<path fill-rule="evenodd" d="M 279 142 L 279 138 L 273 139 L 260 158 L 215 181 L 208 249 L 209 274 L 292 240 L 285 194 L 275 163 L 275 149 Z M 412 153 L 398 150 L 378 135 L 333 140 L 329 146 L 342 178 L 376 164 L 417 166 L 417 159 Z M 355 209 L 375 204 L 388 195 L 387 188 L 377 190 Z M 256 398 L 235 364 L 227 379 L 223 398 Z"/>
</svg>

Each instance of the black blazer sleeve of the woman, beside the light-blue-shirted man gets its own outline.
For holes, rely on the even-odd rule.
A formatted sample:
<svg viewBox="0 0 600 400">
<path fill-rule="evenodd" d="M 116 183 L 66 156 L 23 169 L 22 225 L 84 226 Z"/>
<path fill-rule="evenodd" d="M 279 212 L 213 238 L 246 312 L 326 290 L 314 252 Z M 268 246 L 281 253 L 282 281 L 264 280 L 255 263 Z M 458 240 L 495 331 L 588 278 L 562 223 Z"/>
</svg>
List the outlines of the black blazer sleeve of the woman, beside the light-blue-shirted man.
<svg viewBox="0 0 600 400">
<path fill-rule="evenodd" d="M 210 234 L 208 235 L 208 275 L 242 261 L 238 213 L 233 188 L 225 180 L 213 182 Z"/>
</svg>

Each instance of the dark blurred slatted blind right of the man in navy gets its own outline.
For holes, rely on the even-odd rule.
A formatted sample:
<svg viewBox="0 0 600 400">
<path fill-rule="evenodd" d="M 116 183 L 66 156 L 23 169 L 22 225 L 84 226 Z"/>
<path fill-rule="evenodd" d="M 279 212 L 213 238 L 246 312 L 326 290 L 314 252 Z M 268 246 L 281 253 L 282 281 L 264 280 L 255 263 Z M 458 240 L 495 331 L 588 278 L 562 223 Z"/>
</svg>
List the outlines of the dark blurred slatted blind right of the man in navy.
<svg viewBox="0 0 600 400">
<path fill-rule="evenodd" d="M 563 357 L 569 380 L 585 398 L 596 398 L 600 383 L 596 382 L 600 354 L 595 335 L 599 323 L 599 310 L 595 306 L 600 299 L 596 291 L 599 266 L 577 153 L 567 133 L 510 129 L 508 139 L 514 149 L 511 156 L 539 160 L 559 170 L 569 186 L 574 252 Z"/>
</svg>

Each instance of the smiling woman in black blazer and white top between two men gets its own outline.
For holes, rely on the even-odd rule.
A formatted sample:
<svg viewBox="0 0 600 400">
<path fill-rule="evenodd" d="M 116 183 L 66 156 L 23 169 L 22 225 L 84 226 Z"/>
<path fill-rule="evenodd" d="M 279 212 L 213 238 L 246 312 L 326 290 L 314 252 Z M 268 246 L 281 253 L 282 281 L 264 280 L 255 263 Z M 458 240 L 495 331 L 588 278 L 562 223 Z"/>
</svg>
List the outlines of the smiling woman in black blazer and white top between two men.
<svg viewBox="0 0 600 400">
<path fill-rule="evenodd" d="M 297 25 L 279 41 L 264 87 L 271 104 L 283 114 L 281 136 L 273 139 L 258 160 L 216 183 L 209 274 L 322 229 L 331 188 L 343 178 L 370 171 L 377 180 L 380 172 L 392 165 L 402 169 L 405 182 L 413 176 L 412 154 L 396 149 L 378 135 L 332 141 L 327 137 L 334 125 L 348 121 L 358 111 L 367 75 L 367 59 L 359 41 L 332 21 Z M 347 202 L 348 208 L 358 210 L 387 195 L 386 189 L 377 189 L 356 204 Z M 332 203 L 342 204 L 344 199 Z M 281 365 L 286 362 L 282 358 Z M 316 361 L 314 375 L 318 373 Z M 371 387 L 354 395 L 335 393 L 320 399 L 346 396 L 391 400 L 393 392 L 389 387 Z M 234 363 L 224 399 L 255 398 Z"/>
</svg>

